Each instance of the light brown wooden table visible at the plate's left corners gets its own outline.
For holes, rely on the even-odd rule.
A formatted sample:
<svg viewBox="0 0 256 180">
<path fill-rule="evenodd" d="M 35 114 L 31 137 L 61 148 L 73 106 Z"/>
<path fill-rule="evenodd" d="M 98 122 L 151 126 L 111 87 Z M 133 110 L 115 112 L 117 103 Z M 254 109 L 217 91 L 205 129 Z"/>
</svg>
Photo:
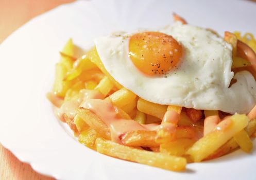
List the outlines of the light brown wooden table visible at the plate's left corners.
<svg viewBox="0 0 256 180">
<path fill-rule="evenodd" d="M 0 43 L 32 17 L 74 0 L 0 0 Z M 0 179 L 54 179 L 34 171 L 0 144 Z"/>
</svg>

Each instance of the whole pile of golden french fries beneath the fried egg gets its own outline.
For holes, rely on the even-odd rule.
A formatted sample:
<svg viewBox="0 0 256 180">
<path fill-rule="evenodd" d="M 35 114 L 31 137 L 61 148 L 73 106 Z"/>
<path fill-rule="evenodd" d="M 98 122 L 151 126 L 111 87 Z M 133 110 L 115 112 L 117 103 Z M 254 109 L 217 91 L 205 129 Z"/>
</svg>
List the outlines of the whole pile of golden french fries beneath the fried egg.
<svg viewBox="0 0 256 180">
<path fill-rule="evenodd" d="M 237 38 L 227 32 L 225 40 L 233 46 L 233 69 L 250 67 L 245 56 L 237 56 Z M 219 111 L 186 109 L 175 105 L 148 102 L 116 82 L 101 62 L 95 48 L 81 58 L 75 57 L 75 46 L 69 40 L 56 64 L 53 86 L 55 96 L 63 103 L 79 98 L 82 89 L 97 89 L 105 99 L 110 99 L 116 116 L 132 119 L 140 124 L 170 123 L 162 121 L 167 111 L 179 114 L 174 122 L 175 131 L 130 131 L 111 140 L 108 126 L 96 114 L 82 107 L 74 118 L 64 115 L 74 134 L 83 145 L 109 156 L 134 161 L 173 171 L 185 169 L 187 163 L 225 155 L 237 148 L 252 150 L 251 138 L 256 131 L 256 110 L 248 115 L 226 116 Z M 61 106 L 61 104 L 55 104 Z M 207 118 L 207 121 L 204 121 Z M 226 127 L 226 128 L 224 128 Z"/>
</svg>

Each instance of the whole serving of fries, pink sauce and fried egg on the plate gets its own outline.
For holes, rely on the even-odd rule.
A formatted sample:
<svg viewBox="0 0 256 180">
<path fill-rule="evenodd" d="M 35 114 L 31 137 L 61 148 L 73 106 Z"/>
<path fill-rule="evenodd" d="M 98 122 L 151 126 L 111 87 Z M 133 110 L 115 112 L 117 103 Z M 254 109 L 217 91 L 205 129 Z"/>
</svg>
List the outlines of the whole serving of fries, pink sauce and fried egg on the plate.
<svg viewBox="0 0 256 180">
<path fill-rule="evenodd" d="M 241 148 L 256 131 L 256 41 L 192 26 L 115 32 L 77 58 L 69 40 L 47 94 L 83 145 L 181 171 Z"/>
</svg>

